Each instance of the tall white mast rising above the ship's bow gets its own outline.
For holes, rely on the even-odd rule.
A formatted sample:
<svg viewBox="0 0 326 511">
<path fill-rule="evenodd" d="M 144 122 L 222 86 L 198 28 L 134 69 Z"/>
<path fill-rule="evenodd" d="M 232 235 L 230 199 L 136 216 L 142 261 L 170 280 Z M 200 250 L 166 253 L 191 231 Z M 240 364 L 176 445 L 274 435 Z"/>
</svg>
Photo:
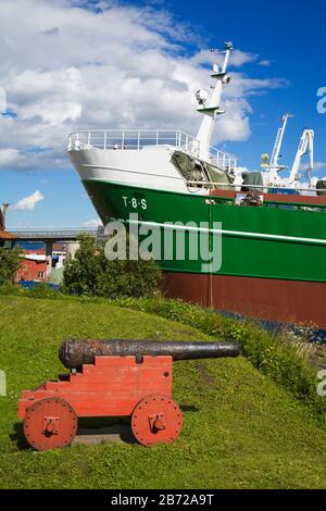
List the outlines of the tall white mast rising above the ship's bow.
<svg viewBox="0 0 326 511">
<path fill-rule="evenodd" d="M 221 98 L 223 91 L 223 85 L 230 82 L 230 77 L 227 76 L 227 64 L 229 60 L 230 52 L 233 50 L 231 42 L 225 42 L 225 48 L 221 53 L 225 54 L 223 66 L 220 70 L 217 64 L 213 65 L 212 78 L 217 80 L 216 86 L 208 99 L 203 101 L 202 107 L 198 109 L 198 112 L 204 115 L 202 123 L 200 125 L 199 132 L 197 134 L 197 140 L 199 140 L 199 155 L 203 160 L 210 159 L 210 145 L 213 136 L 214 124 L 217 115 L 225 113 L 224 110 L 221 110 Z M 215 51 L 215 50 L 212 50 Z M 220 53 L 220 52 L 218 52 Z"/>
</svg>

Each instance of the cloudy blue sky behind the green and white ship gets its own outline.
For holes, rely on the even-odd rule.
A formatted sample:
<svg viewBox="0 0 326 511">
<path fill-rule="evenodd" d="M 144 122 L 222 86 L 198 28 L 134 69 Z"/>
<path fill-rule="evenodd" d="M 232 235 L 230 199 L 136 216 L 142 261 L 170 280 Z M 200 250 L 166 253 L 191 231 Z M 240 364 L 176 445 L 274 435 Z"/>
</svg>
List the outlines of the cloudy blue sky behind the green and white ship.
<svg viewBox="0 0 326 511">
<path fill-rule="evenodd" d="M 27 30 L 25 40 L 29 43 L 29 54 L 24 60 L 20 57 L 24 41 L 15 32 L 20 16 L 12 4 L 20 8 L 23 21 L 24 10 L 32 14 L 21 27 L 21 32 Z M 230 111 L 240 120 L 235 134 L 221 125 L 221 147 L 237 154 L 241 166 L 258 169 L 261 153 L 272 151 L 279 117 L 289 111 L 296 117 L 286 134 L 285 163 L 292 163 L 301 130 L 311 127 L 315 130 L 318 175 L 326 175 L 326 114 L 316 110 L 317 89 L 326 87 L 326 3 L 323 0 L 311 0 L 309 5 L 292 0 L 100 3 L 3 0 L 1 5 L 7 10 L 2 16 L 0 12 L 3 23 L 1 26 L 0 21 L 0 50 L 8 60 L 4 58 L 0 65 L 0 86 L 7 91 L 9 113 L 0 117 L 0 201 L 16 204 L 30 196 L 38 198 L 34 209 L 12 209 L 10 225 L 83 225 L 95 221 L 97 214 L 64 152 L 68 132 L 86 126 L 128 127 L 128 120 L 133 126 L 138 123 L 139 127 L 146 127 L 148 122 L 148 126 L 156 123 L 158 128 L 174 125 L 189 130 L 193 117 L 173 116 L 162 97 L 162 88 L 178 90 L 168 70 L 178 65 L 178 59 L 184 64 L 200 49 L 218 47 L 225 40 L 231 40 L 248 58 L 243 59 L 243 65 L 230 67 L 235 84 L 240 78 L 242 85 L 234 86 L 227 100 Z M 114 36 L 109 34 L 111 28 L 105 17 L 110 10 L 115 13 Z M 92 48 L 89 54 L 87 50 L 77 51 L 80 23 L 85 24 L 85 45 Z M 134 40 L 128 45 L 130 26 Z M 40 37 L 45 38 L 43 47 Z M 133 51 L 134 61 L 141 70 L 141 87 L 149 92 L 143 98 L 126 95 L 121 119 L 120 110 L 114 110 L 116 101 L 111 104 L 110 98 L 126 79 L 137 76 L 134 64 L 126 63 L 126 55 Z M 118 61 L 120 54 L 123 57 Z M 153 73 L 153 68 L 145 72 L 148 62 L 145 64 L 142 57 L 147 59 L 148 54 L 154 54 L 161 66 L 160 92 L 147 89 L 146 73 Z M 203 64 L 186 68 L 185 83 L 190 84 L 189 90 L 198 79 L 208 76 Z M 97 83 L 96 65 L 96 72 L 101 73 Z M 162 66 L 166 66 L 166 74 Z M 121 67 L 124 73 L 120 76 Z M 113 75 L 114 90 L 110 89 Z M 189 90 L 185 88 L 179 97 L 183 108 L 189 101 Z M 153 104 L 158 105 L 155 113 L 153 109 L 147 110 L 151 94 Z M 64 112 L 68 113 L 64 115 Z M 39 195 L 35 196 L 36 191 Z"/>
</svg>

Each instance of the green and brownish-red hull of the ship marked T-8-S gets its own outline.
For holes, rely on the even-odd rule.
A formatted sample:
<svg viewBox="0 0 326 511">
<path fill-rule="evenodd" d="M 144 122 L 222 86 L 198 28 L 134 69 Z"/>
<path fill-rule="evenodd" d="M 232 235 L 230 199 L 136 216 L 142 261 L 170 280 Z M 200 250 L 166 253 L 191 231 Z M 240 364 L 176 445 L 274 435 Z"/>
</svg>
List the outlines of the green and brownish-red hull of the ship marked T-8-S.
<svg viewBox="0 0 326 511">
<path fill-rule="evenodd" d="M 205 265 L 185 253 L 159 261 L 168 296 L 216 309 L 326 326 L 326 200 L 265 195 L 261 207 L 236 203 L 236 194 L 178 194 L 84 180 L 104 225 L 130 214 L 145 224 L 192 222 L 213 236 L 221 223 L 222 264 Z M 185 233 L 187 237 L 190 233 Z M 164 244 L 162 236 L 162 245 Z"/>
</svg>

